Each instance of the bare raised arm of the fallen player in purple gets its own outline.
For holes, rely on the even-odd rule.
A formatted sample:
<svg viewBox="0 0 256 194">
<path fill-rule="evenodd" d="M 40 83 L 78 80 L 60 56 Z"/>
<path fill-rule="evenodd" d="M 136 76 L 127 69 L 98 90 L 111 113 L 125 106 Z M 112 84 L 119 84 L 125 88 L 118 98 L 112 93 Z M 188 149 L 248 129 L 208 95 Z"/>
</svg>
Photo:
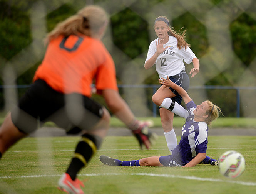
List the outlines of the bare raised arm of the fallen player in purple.
<svg viewBox="0 0 256 194">
<path fill-rule="evenodd" d="M 179 95 L 181 95 L 182 99 L 184 100 L 185 104 L 190 102 L 192 99 L 187 94 L 186 90 L 184 90 L 182 87 L 180 87 L 177 84 L 174 84 L 169 77 L 167 76 L 167 79 L 161 78 L 159 79 L 159 83 L 165 85 L 166 87 L 171 87 L 172 89 L 176 90 Z"/>
</svg>

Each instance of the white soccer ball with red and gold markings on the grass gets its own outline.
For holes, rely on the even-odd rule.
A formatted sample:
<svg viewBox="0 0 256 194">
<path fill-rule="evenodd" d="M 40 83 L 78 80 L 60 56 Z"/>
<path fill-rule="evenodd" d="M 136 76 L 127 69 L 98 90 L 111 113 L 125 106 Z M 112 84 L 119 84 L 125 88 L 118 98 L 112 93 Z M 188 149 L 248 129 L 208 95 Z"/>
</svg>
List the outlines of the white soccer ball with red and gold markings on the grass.
<svg viewBox="0 0 256 194">
<path fill-rule="evenodd" d="M 219 157 L 219 172 L 228 177 L 236 178 L 245 170 L 245 159 L 237 151 L 226 151 Z"/>
</svg>

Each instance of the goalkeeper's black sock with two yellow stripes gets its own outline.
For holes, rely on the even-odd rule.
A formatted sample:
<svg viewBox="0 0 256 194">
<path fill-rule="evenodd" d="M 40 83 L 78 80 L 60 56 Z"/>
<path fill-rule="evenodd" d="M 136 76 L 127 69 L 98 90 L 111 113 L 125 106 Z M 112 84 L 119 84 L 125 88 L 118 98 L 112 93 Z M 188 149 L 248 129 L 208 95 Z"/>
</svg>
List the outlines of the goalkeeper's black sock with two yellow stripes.
<svg viewBox="0 0 256 194">
<path fill-rule="evenodd" d="M 80 169 L 87 165 L 90 158 L 99 149 L 102 138 L 96 135 L 84 134 L 82 139 L 77 144 L 75 154 L 67 169 L 66 173 L 70 175 L 72 180 L 75 180 Z"/>
</svg>

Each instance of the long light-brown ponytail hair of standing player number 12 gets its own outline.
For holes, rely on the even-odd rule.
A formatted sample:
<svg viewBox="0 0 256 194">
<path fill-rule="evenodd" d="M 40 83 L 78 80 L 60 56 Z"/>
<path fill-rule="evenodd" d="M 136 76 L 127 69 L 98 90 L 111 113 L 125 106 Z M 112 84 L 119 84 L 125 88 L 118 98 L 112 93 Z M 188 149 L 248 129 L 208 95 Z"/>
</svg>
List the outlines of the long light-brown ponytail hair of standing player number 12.
<svg viewBox="0 0 256 194">
<path fill-rule="evenodd" d="M 159 16 L 159 17 L 157 17 L 157 18 L 165 18 L 167 21 L 168 21 L 168 23 L 170 23 L 169 22 L 169 20 L 168 20 L 168 18 L 166 17 L 166 16 Z M 156 18 L 156 19 L 157 19 Z M 184 28 L 184 27 L 182 27 L 181 28 L 181 30 L 179 30 L 179 32 L 178 33 L 176 33 L 176 31 L 174 30 L 174 27 L 170 27 L 167 23 L 166 23 L 166 25 L 170 28 L 170 30 L 168 31 L 168 35 L 170 35 L 170 36 L 174 36 L 175 38 L 177 38 L 177 41 L 178 41 L 178 44 L 177 44 L 177 47 L 179 48 L 179 49 L 182 49 L 183 47 L 186 49 L 187 47 L 190 47 L 190 44 L 187 44 L 187 42 L 186 42 L 186 40 L 185 40 L 185 38 L 186 38 L 186 31 L 187 31 L 187 29 L 185 29 L 183 32 L 181 32 L 181 30 L 182 30 L 182 28 Z M 155 27 L 155 25 L 154 25 L 154 27 Z"/>
</svg>

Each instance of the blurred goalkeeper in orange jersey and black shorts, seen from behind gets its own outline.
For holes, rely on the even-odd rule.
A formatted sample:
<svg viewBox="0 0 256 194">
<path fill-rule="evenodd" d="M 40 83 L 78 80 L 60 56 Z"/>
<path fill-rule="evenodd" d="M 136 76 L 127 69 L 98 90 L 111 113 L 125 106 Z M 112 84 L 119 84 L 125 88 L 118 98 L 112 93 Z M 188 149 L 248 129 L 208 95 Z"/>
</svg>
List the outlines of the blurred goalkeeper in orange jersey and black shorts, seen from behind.
<svg viewBox="0 0 256 194">
<path fill-rule="evenodd" d="M 100 41 L 107 23 L 105 11 L 94 5 L 59 23 L 45 39 L 47 51 L 33 85 L 0 127 L 0 158 L 10 146 L 34 132 L 38 121 L 53 121 L 67 133 L 83 130 L 74 157 L 59 180 L 59 188 L 68 193 L 84 193 L 77 173 L 99 149 L 109 128 L 110 113 L 90 99 L 92 83 L 141 147 L 149 149 L 156 135 L 146 122 L 134 117 L 119 95 L 114 61 Z"/>
</svg>

